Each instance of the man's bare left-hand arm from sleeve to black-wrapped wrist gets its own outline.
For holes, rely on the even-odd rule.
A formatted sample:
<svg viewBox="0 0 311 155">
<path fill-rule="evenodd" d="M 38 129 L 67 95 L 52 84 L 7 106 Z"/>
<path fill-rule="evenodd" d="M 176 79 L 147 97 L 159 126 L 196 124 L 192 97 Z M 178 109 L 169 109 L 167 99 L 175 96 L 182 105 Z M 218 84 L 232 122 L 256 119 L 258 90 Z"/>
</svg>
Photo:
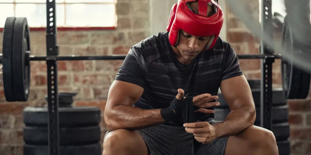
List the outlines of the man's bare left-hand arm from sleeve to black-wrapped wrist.
<svg viewBox="0 0 311 155">
<path fill-rule="evenodd" d="M 138 130 L 165 122 L 160 109 L 132 107 L 144 89 L 132 83 L 115 80 L 108 93 L 104 119 L 108 130 Z"/>
</svg>

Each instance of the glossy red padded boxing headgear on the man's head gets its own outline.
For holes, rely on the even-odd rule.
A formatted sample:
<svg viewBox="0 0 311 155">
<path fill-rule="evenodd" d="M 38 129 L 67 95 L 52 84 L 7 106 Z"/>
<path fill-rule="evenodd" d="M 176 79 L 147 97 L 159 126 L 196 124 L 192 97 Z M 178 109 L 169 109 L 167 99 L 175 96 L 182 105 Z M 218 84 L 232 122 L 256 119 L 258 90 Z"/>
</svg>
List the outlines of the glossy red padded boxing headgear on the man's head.
<svg viewBox="0 0 311 155">
<path fill-rule="evenodd" d="M 198 1 L 198 13 L 192 11 L 187 3 Z M 208 3 L 214 5 L 215 12 L 207 16 Z M 212 36 L 205 49 L 214 47 L 219 36 L 224 14 L 215 0 L 179 0 L 174 4 L 169 16 L 166 30 L 169 31 L 169 42 L 176 46 L 179 40 L 179 30 L 200 37 Z"/>
</svg>

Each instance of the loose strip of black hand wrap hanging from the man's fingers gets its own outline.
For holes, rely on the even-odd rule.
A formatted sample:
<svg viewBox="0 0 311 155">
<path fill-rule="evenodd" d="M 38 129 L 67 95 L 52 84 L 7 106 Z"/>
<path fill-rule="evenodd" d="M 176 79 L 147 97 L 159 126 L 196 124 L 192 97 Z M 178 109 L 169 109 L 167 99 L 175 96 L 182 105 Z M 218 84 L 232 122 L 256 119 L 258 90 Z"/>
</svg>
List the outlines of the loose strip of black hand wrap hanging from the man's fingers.
<svg viewBox="0 0 311 155">
<path fill-rule="evenodd" d="M 199 107 L 193 105 L 193 97 L 187 97 L 183 100 L 183 122 L 193 123 L 196 122 L 194 119 L 194 111 L 199 109 Z M 192 145 L 192 155 L 194 155 L 201 146 L 201 142 L 194 139 L 193 135 L 193 145 Z"/>
</svg>

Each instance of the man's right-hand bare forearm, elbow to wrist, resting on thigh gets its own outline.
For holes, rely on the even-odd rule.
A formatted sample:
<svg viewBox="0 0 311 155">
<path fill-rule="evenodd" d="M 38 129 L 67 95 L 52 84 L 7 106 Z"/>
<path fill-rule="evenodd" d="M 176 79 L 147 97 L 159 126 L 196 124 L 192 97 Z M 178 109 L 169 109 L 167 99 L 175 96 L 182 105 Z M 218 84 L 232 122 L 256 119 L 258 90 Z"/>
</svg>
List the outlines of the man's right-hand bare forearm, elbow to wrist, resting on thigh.
<svg viewBox="0 0 311 155">
<path fill-rule="evenodd" d="M 236 135 L 249 126 L 252 126 L 256 119 L 256 110 L 253 107 L 241 106 L 232 110 L 223 122 L 215 126 L 218 137 Z"/>
</svg>

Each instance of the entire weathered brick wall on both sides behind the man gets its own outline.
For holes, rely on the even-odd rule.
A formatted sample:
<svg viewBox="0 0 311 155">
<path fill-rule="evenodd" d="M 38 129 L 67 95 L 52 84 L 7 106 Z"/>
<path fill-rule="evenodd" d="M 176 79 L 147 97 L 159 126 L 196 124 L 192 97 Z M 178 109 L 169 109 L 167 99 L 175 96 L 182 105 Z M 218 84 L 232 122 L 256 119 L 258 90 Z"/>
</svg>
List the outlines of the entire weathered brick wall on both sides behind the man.
<svg viewBox="0 0 311 155">
<path fill-rule="evenodd" d="M 127 54 L 129 48 L 150 36 L 155 29 L 165 31 L 171 4 L 176 0 L 163 3 L 167 15 L 163 20 L 157 21 L 157 15 L 152 11 L 152 5 L 159 0 L 124 0 L 116 4 L 118 27 L 107 30 L 81 30 L 63 29 L 58 31 L 58 44 L 60 55 L 112 55 Z M 168 0 L 165 0 L 168 1 Z M 250 11 L 259 15 L 258 0 L 250 0 Z M 222 8 L 225 8 L 222 6 Z M 258 16 L 259 17 L 259 16 Z M 256 18 L 258 18 L 256 17 Z M 162 17 L 163 18 L 163 17 Z M 2 19 L 0 19 L 2 20 Z M 157 21 L 157 22 L 155 22 Z M 225 10 L 225 27 L 222 36 L 230 42 L 237 54 L 258 54 L 259 40 L 252 36 L 238 19 L 228 10 Z M 155 28 L 156 27 L 156 28 Z M 113 29 L 113 30 L 111 30 Z M 2 35 L 0 44 L 2 47 Z M 31 29 L 31 55 L 46 55 L 44 29 Z M 280 34 L 275 33 L 280 39 Z M 248 79 L 260 79 L 260 60 L 239 60 L 241 68 Z M 97 106 L 101 110 L 100 143 L 106 132 L 103 112 L 107 92 L 122 60 L 96 60 L 96 61 L 59 61 L 58 84 L 59 91 L 77 92 L 74 106 Z M 273 87 L 281 87 L 280 60 L 273 64 Z M 27 106 L 42 106 L 46 104 L 47 94 L 46 64 L 44 61 L 31 62 L 31 90 L 27 102 L 8 103 L 4 98 L 3 87 L 0 86 L 0 154 L 22 155 L 23 109 Z M 2 85 L 2 83 L 0 83 Z M 311 91 L 310 91 L 311 92 Z M 309 95 L 310 96 L 310 95 Z M 311 152 L 311 100 L 288 100 L 290 148 L 292 155 L 307 155 Z"/>
</svg>

